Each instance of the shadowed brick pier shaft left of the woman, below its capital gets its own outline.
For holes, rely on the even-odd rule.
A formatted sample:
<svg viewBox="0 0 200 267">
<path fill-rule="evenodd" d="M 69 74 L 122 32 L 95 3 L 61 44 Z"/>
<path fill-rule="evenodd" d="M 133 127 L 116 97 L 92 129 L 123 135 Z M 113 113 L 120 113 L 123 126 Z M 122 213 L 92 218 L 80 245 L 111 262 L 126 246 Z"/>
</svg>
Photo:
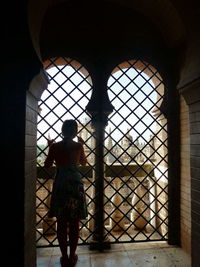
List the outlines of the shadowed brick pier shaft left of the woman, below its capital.
<svg viewBox="0 0 200 267">
<path fill-rule="evenodd" d="M 35 250 L 35 194 L 33 188 L 35 188 L 36 173 L 34 166 L 36 165 L 36 125 L 37 121 L 37 100 L 30 93 L 27 93 L 26 104 L 26 147 L 25 147 L 25 246 L 27 251 L 32 251 L 31 254 L 27 254 L 25 258 L 31 262 L 36 262 Z M 34 266 L 34 265 L 33 265 Z"/>
</svg>

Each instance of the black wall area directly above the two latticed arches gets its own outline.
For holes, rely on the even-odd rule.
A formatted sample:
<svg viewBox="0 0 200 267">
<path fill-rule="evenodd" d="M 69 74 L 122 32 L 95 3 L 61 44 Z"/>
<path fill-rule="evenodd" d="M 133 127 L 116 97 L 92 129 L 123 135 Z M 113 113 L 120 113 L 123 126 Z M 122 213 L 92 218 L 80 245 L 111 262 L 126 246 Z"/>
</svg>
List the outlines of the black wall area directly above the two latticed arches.
<svg viewBox="0 0 200 267">
<path fill-rule="evenodd" d="M 40 47 L 43 60 L 52 56 L 106 60 L 160 49 L 163 39 L 147 17 L 121 5 L 69 1 L 45 14 Z M 123 59 L 122 59 L 123 60 Z"/>
</svg>

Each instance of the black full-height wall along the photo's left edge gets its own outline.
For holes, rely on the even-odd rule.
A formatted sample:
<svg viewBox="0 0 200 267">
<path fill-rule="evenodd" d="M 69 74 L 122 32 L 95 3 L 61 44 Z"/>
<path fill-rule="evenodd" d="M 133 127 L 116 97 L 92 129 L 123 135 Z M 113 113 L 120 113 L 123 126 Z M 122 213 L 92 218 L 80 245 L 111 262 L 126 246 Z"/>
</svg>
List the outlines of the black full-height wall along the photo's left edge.
<svg viewBox="0 0 200 267">
<path fill-rule="evenodd" d="M 1 35 L 1 252 L 6 266 L 31 266 L 24 265 L 29 242 L 25 214 L 32 205 L 30 198 L 25 202 L 26 91 L 41 65 L 29 36 L 26 1 L 12 5 L 5 2 L 2 10 L 8 17 Z"/>
</svg>

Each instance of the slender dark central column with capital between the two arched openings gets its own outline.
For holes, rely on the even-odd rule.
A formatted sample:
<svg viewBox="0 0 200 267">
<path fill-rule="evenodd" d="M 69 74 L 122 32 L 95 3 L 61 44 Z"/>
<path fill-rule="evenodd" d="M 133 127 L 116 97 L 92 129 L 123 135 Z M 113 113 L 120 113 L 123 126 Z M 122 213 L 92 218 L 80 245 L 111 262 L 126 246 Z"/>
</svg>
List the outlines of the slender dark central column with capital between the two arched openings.
<svg viewBox="0 0 200 267">
<path fill-rule="evenodd" d="M 92 117 L 92 127 L 95 136 L 95 163 L 94 163 L 94 230 L 90 249 L 110 248 L 104 234 L 104 133 L 109 114 L 113 107 L 107 95 L 105 66 L 101 59 L 93 69 L 93 93 L 86 110 Z M 98 66 L 98 67 L 97 67 Z"/>
</svg>

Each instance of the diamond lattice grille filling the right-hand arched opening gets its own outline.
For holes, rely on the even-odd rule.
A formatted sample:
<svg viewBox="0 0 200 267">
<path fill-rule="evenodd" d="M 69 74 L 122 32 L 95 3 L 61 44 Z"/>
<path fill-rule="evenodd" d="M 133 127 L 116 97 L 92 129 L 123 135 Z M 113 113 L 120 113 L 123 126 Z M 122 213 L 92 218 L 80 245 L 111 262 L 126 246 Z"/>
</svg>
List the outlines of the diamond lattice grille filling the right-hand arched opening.
<svg viewBox="0 0 200 267">
<path fill-rule="evenodd" d="M 115 68 L 108 81 L 114 112 L 105 137 L 105 235 L 111 242 L 166 240 L 167 120 L 160 75 L 142 61 Z"/>
</svg>

